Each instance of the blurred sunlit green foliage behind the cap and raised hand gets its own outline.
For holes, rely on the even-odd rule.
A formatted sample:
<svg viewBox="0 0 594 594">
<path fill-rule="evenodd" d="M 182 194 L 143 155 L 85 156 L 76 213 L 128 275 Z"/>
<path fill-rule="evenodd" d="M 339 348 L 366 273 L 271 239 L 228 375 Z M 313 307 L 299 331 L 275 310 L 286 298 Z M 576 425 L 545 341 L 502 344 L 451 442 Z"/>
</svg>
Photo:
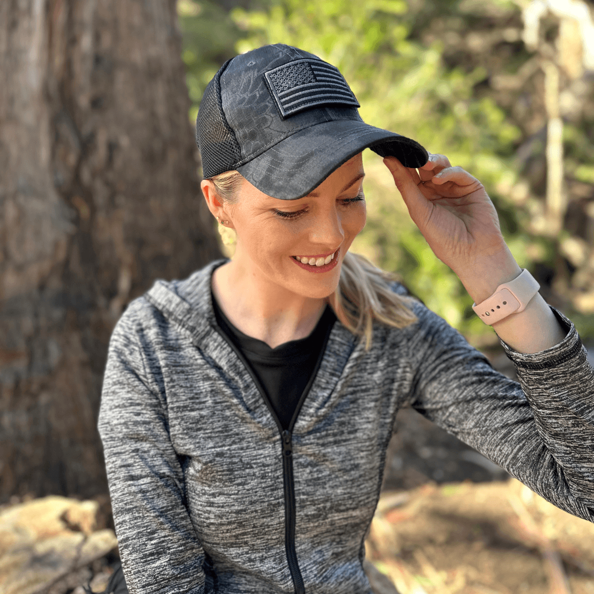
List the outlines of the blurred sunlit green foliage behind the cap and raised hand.
<svg viewBox="0 0 594 594">
<path fill-rule="evenodd" d="M 584 339 L 594 338 L 594 26 L 583 3 L 549 4 L 287 0 L 228 11 L 180 0 L 190 119 L 235 53 L 287 43 L 336 64 L 366 122 L 447 154 L 485 184 L 520 266 Z M 364 155 L 369 219 L 353 251 L 402 274 L 471 342 L 492 344 L 494 333 L 407 216 L 381 160 Z"/>
</svg>

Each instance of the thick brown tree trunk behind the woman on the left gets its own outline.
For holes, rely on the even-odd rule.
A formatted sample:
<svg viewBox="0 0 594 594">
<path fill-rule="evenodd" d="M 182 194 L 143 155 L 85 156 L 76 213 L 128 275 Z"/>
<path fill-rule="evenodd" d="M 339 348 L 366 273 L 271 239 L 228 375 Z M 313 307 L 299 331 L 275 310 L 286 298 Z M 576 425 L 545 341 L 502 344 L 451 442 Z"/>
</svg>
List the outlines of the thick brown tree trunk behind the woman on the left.
<svg viewBox="0 0 594 594">
<path fill-rule="evenodd" d="M 175 0 L 0 2 L 0 501 L 106 492 L 109 335 L 220 252 Z"/>
</svg>

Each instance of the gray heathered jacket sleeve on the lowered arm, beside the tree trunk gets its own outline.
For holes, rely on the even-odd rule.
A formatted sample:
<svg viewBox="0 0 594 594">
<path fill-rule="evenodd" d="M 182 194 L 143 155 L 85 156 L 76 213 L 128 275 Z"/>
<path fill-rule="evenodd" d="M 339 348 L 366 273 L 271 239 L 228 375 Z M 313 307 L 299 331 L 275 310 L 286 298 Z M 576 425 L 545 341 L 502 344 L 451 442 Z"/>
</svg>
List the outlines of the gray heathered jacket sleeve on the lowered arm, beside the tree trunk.
<svg viewBox="0 0 594 594">
<path fill-rule="evenodd" d="M 124 576 L 130 594 L 203 594 L 204 551 L 186 507 L 165 397 L 147 374 L 127 314 L 110 340 L 99 411 Z"/>
</svg>

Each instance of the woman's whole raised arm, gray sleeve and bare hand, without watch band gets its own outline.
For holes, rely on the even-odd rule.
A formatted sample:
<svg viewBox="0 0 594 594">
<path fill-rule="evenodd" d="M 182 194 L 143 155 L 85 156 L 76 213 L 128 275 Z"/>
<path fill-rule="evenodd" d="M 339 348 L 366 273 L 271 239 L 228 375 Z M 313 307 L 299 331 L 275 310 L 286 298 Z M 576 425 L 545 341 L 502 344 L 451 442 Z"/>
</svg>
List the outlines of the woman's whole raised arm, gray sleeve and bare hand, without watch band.
<svg viewBox="0 0 594 594">
<path fill-rule="evenodd" d="M 384 159 L 435 255 L 476 303 L 520 268 L 478 179 L 431 154 L 417 171 Z M 543 497 L 594 519 L 594 372 L 573 325 L 536 295 L 494 324 L 520 384 L 495 372 L 453 328 L 422 312 L 410 356 L 413 406 Z"/>
</svg>

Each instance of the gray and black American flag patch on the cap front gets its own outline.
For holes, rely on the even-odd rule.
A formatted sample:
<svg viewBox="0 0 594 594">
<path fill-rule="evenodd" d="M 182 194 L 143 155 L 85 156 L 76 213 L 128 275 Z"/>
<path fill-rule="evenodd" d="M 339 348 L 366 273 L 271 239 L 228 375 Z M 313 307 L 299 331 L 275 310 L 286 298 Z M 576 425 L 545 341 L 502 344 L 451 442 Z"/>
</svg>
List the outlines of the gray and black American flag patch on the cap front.
<svg viewBox="0 0 594 594">
<path fill-rule="evenodd" d="M 281 117 L 314 105 L 361 107 L 338 68 L 321 60 L 296 60 L 264 72 Z"/>
</svg>

